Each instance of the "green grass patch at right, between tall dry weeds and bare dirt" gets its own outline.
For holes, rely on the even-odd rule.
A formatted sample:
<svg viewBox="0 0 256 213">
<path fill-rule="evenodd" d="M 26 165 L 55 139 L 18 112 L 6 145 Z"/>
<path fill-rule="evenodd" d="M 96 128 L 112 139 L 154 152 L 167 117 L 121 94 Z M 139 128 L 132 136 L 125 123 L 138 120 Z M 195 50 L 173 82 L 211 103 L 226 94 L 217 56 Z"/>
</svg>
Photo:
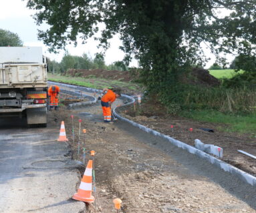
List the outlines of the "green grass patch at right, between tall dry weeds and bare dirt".
<svg viewBox="0 0 256 213">
<path fill-rule="evenodd" d="M 226 127 L 220 125 L 218 130 L 225 132 L 249 133 L 255 137 L 256 133 L 256 112 L 249 115 L 225 114 L 214 110 L 183 111 L 180 115 L 193 120 L 213 122 L 215 124 L 227 124 Z"/>
</svg>

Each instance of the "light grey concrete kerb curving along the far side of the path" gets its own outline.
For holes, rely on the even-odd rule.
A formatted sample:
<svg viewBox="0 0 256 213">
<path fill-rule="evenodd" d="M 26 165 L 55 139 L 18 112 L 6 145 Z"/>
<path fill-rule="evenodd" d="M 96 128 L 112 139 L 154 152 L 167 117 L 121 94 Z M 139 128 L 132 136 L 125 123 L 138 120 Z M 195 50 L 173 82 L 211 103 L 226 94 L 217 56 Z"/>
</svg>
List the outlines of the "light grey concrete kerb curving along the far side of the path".
<svg viewBox="0 0 256 213">
<path fill-rule="evenodd" d="M 49 82 L 49 81 L 48 81 L 48 83 L 60 85 L 63 87 L 69 87 L 72 89 L 80 89 L 80 91 L 86 91 L 89 93 L 99 93 L 100 92 L 100 90 L 98 90 L 98 89 L 91 89 L 91 88 L 79 87 L 79 86 L 74 86 L 74 85 L 65 85 L 62 83 L 55 83 L 55 82 Z M 80 94 L 80 93 L 77 93 L 77 94 Z M 128 95 L 122 95 L 122 97 L 130 100 L 130 103 L 122 105 L 122 107 L 132 105 L 132 103 L 135 102 L 135 99 Z M 247 184 L 251 184 L 251 186 L 256 186 L 256 177 L 255 176 L 252 176 L 251 174 L 248 174 L 247 172 L 244 172 L 243 170 L 240 170 L 239 168 L 236 168 L 235 166 L 232 166 L 231 164 L 228 164 L 227 162 L 224 162 L 218 158 L 215 158 L 214 156 L 211 156 L 210 154 L 207 154 L 193 146 L 185 144 L 184 142 L 175 140 L 174 138 L 172 138 L 170 136 L 167 136 L 165 134 L 157 132 L 156 130 L 152 130 L 151 128 L 147 128 L 146 126 L 143 126 L 141 124 L 133 122 L 132 120 L 128 120 L 127 118 L 120 116 L 120 114 L 118 114 L 116 112 L 116 108 L 117 107 L 115 107 L 113 109 L 113 114 L 120 120 L 124 120 L 124 121 L 132 124 L 133 126 L 136 126 L 136 127 L 140 128 L 141 130 L 144 130 L 145 132 L 153 134 L 154 136 L 160 136 L 161 138 L 164 138 L 165 140 L 168 140 L 169 142 L 171 142 L 174 146 L 178 146 L 179 148 L 182 148 L 191 154 L 195 154 L 195 155 L 199 156 L 199 158 L 203 158 L 204 160 L 211 162 L 211 164 L 214 164 L 215 166 L 225 170 L 225 172 L 229 172 L 229 173 L 237 176 L 243 182 L 246 182 Z"/>
</svg>

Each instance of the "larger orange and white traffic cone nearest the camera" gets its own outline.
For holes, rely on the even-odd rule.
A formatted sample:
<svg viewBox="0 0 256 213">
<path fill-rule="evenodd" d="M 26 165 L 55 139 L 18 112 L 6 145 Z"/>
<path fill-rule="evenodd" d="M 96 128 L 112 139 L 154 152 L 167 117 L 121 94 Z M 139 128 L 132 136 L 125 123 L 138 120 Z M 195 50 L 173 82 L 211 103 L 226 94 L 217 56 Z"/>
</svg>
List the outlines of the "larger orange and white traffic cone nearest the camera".
<svg viewBox="0 0 256 213">
<path fill-rule="evenodd" d="M 74 194 L 72 198 L 83 202 L 94 202 L 94 196 L 92 196 L 92 160 L 88 161 L 78 193 Z"/>
</svg>

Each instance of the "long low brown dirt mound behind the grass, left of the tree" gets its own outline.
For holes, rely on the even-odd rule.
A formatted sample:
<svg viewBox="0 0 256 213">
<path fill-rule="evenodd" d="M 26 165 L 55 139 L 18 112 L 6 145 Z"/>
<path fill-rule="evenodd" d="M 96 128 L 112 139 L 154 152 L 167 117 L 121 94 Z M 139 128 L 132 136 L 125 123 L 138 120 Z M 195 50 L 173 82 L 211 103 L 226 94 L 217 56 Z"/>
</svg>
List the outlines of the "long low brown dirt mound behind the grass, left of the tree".
<svg viewBox="0 0 256 213">
<path fill-rule="evenodd" d="M 66 75 L 72 77 L 96 77 L 102 79 L 111 79 L 119 81 L 132 81 L 129 71 L 107 71 L 105 69 L 70 69 L 66 72 Z"/>
</svg>

